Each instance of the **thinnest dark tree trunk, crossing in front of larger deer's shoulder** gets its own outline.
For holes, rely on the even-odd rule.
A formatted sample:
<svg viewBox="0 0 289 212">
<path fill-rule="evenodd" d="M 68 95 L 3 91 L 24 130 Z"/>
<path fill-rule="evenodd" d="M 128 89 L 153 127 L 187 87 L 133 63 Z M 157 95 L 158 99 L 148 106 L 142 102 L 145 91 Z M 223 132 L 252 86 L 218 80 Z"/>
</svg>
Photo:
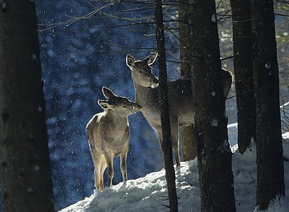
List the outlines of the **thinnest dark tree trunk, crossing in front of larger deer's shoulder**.
<svg viewBox="0 0 289 212">
<path fill-rule="evenodd" d="M 155 18 L 157 21 L 157 49 L 159 53 L 159 101 L 161 107 L 162 122 L 162 151 L 164 153 L 164 166 L 166 170 L 166 182 L 169 192 L 169 208 L 170 211 L 178 211 L 178 201 L 176 196 L 176 176 L 174 170 L 174 161 L 171 149 L 171 123 L 169 120 L 169 99 L 166 73 L 166 53 L 165 53 L 165 37 L 164 22 L 162 13 L 162 0 L 156 0 Z"/>
</svg>

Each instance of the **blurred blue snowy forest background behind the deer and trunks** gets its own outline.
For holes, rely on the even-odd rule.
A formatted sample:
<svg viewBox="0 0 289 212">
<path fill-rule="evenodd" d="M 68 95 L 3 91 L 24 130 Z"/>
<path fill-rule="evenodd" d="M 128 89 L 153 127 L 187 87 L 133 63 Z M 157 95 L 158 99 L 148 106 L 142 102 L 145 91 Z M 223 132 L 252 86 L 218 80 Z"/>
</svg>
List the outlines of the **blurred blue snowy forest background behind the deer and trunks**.
<svg viewBox="0 0 289 212">
<path fill-rule="evenodd" d="M 117 95 L 135 100 L 125 57 L 131 54 L 135 59 L 144 59 L 156 51 L 155 29 L 149 26 L 155 21 L 154 6 L 149 4 L 152 1 L 142 2 L 146 4 L 87 0 L 36 1 L 57 210 L 93 194 L 94 165 L 85 127 L 94 114 L 102 112 L 97 104 L 98 99 L 104 98 L 102 86 L 111 88 Z M 102 9 L 97 11 L 97 8 Z M 96 11 L 93 16 L 86 16 L 92 11 Z M 176 8 L 166 8 L 165 11 L 165 20 L 177 20 Z M 145 18 L 147 16 L 150 18 Z M 84 18 L 74 23 L 66 22 L 79 17 Z M 124 18 L 130 18 L 130 21 Z M 137 22 L 144 25 L 138 25 Z M 51 28 L 55 23 L 59 24 Z M 226 24 L 222 20 L 222 25 Z M 176 21 L 166 25 L 176 28 Z M 229 57 L 232 55 L 232 32 L 229 28 L 219 30 L 221 56 Z M 179 44 L 174 36 L 177 34 L 177 30 L 171 30 L 171 34 L 166 36 L 166 49 L 170 49 L 166 57 L 170 61 L 179 61 Z M 179 78 L 179 64 L 168 62 L 167 65 L 169 78 Z M 233 71 L 232 59 L 222 61 L 222 66 Z M 157 63 L 152 67 L 158 76 Z M 234 95 L 234 87 L 230 95 Z M 287 99 L 284 98 L 285 101 Z M 226 106 L 229 123 L 236 122 L 234 98 L 227 100 Z M 128 179 L 136 179 L 162 169 L 164 164 L 157 134 L 142 113 L 130 115 L 129 122 Z M 119 158 L 115 158 L 113 184 L 123 180 L 119 164 Z M 105 185 L 106 175 L 107 172 Z"/>
</svg>

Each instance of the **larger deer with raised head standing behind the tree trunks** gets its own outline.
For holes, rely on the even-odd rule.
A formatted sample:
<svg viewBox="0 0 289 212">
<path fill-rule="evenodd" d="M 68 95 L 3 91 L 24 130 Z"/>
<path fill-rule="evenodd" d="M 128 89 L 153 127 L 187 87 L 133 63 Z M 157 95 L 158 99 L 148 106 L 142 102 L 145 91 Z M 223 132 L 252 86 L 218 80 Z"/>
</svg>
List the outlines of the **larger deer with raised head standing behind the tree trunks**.
<svg viewBox="0 0 289 212">
<path fill-rule="evenodd" d="M 157 58 L 157 52 L 143 60 L 135 61 L 130 54 L 126 57 L 126 64 L 131 70 L 135 87 L 135 102 L 142 107 L 149 125 L 157 132 L 162 148 L 162 124 L 160 117 L 158 78 L 152 73 L 152 65 Z M 225 99 L 232 86 L 232 74 L 222 69 Z M 180 166 L 179 157 L 179 127 L 189 126 L 194 122 L 192 110 L 193 98 L 191 80 L 178 79 L 168 81 L 169 89 L 169 119 L 171 122 L 171 146 L 176 158 L 176 165 Z"/>
</svg>

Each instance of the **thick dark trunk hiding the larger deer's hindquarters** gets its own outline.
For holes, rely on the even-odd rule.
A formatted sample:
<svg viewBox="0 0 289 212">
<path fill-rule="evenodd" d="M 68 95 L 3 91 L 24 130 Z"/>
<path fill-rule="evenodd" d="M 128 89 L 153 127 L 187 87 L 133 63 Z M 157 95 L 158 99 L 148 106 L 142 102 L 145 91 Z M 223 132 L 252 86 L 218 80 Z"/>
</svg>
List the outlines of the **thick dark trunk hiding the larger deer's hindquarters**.
<svg viewBox="0 0 289 212">
<path fill-rule="evenodd" d="M 193 110 L 202 211 L 236 211 L 215 1 L 189 1 Z"/>
</svg>

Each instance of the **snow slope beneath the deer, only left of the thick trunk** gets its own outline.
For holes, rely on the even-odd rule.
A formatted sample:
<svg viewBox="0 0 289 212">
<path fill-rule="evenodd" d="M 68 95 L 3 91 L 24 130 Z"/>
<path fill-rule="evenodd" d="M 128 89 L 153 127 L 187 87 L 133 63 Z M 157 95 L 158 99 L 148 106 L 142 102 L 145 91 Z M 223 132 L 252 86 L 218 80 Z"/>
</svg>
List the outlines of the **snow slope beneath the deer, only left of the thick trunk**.
<svg viewBox="0 0 289 212">
<path fill-rule="evenodd" d="M 176 168 L 177 195 L 181 197 L 179 211 L 200 211 L 200 204 L 194 205 L 195 201 L 200 203 L 197 163 L 197 160 L 182 162 L 181 167 Z M 167 211 L 167 196 L 165 171 L 161 170 L 106 187 L 103 191 L 94 190 L 89 198 L 64 208 L 61 212 Z"/>
</svg>

